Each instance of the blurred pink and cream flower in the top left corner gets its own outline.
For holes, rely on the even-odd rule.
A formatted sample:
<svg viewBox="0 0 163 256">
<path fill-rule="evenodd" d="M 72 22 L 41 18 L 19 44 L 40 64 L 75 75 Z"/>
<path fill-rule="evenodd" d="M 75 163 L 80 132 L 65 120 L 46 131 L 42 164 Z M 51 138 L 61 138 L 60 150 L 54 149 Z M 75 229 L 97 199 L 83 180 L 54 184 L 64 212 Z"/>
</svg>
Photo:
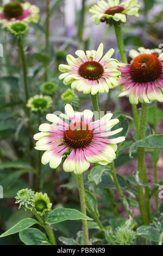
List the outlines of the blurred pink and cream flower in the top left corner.
<svg viewBox="0 0 163 256">
<path fill-rule="evenodd" d="M 8 4 L 3 4 L 0 8 L 0 23 L 3 23 L 4 27 L 6 27 L 10 21 L 16 20 L 27 23 L 39 22 L 39 8 L 29 2 L 11 1 Z"/>
</svg>

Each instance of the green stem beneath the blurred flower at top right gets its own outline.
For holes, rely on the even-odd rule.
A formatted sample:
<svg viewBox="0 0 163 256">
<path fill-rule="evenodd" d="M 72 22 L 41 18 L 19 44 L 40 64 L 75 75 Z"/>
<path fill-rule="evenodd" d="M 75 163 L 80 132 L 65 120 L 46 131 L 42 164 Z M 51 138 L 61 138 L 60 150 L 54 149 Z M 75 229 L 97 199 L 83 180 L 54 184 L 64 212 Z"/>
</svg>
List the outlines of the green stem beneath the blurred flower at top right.
<svg viewBox="0 0 163 256">
<path fill-rule="evenodd" d="M 127 57 L 126 57 L 126 53 L 125 53 L 125 49 L 124 49 L 124 42 L 123 42 L 123 38 L 122 38 L 121 26 L 115 25 L 114 29 L 115 29 L 117 44 L 118 44 L 118 48 L 120 50 L 120 55 L 121 55 L 122 62 L 127 63 Z"/>
</svg>

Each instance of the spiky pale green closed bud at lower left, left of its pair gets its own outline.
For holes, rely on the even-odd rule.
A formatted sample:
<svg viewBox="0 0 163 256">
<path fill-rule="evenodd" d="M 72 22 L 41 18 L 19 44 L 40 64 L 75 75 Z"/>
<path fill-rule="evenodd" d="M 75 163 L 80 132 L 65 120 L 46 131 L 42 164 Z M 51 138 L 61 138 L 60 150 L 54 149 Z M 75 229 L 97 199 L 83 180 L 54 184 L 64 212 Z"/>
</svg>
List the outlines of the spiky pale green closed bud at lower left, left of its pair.
<svg viewBox="0 0 163 256">
<path fill-rule="evenodd" d="M 19 208 L 23 206 L 24 210 L 27 209 L 32 209 L 35 205 L 35 192 L 32 190 L 29 190 L 28 188 L 23 188 L 22 190 L 17 192 L 17 196 L 15 197 L 16 199 L 16 204 L 20 204 Z"/>
</svg>

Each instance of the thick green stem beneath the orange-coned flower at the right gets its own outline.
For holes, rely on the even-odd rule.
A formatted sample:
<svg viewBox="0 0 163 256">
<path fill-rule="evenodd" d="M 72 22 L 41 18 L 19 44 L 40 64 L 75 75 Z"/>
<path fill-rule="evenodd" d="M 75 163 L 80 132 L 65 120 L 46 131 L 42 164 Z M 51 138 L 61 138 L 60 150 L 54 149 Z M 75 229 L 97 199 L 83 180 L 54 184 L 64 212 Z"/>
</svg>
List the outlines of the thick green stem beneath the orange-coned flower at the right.
<svg viewBox="0 0 163 256">
<path fill-rule="evenodd" d="M 142 103 L 139 139 L 145 138 L 147 117 L 148 117 L 148 104 Z M 143 182 L 144 171 L 145 171 L 144 156 L 145 156 L 145 148 L 138 148 L 138 171 L 139 171 L 139 178 L 141 182 Z M 138 191 L 139 191 L 139 204 L 140 204 L 142 223 L 146 225 L 148 224 L 148 219 L 147 219 L 147 212 L 145 207 L 143 187 L 138 186 Z"/>
</svg>

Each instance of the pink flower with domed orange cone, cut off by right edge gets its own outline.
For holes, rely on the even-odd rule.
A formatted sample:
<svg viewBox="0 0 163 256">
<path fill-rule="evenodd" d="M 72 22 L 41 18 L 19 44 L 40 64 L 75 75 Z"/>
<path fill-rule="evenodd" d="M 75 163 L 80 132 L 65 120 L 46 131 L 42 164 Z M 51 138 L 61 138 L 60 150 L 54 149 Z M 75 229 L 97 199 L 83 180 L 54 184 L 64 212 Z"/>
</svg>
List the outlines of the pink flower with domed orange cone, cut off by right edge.
<svg viewBox="0 0 163 256">
<path fill-rule="evenodd" d="M 135 57 L 131 64 L 120 68 L 122 75 L 118 85 L 122 93 L 119 97 L 129 95 L 131 104 L 163 102 L 162 54 L 158 56 L 150 51 L 141 54 L 131 50 L 130 56 Z"/>
</svg>

